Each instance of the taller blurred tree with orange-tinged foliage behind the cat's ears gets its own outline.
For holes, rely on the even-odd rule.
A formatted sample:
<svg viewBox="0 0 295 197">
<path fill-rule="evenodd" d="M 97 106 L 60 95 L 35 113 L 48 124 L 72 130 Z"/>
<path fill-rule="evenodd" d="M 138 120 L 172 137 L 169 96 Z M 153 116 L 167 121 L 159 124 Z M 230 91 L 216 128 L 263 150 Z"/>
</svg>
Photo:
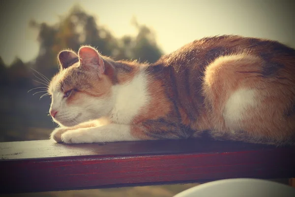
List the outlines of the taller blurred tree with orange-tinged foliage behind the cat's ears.
<svg viewBox="0 0 295 197">
<path fill-rule="evenodd" d="M 67 15 L 60 16 L 54 25 L 37 23 L 29 26 L 39 31 L 40 49 L 34 68 L 47 77 L 58 71 L 57 54 L 63 49 L 78 51 L 81 45 L 91 45 L 104 55 L 112 55 L 116 39 L 104 28 L 99 28 L 93 16 L 88 15 L 79 5 L 75 5 Z"/>
</svg>

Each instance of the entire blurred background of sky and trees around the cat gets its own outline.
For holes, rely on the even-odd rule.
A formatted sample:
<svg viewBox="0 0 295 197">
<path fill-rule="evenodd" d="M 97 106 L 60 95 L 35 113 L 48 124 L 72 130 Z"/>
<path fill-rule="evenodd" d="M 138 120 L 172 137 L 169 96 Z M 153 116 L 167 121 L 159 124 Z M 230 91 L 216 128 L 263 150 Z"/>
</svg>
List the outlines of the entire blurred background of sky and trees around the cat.
<svg viewBox="0 0 295 197">
<path fill-rule="evenodd" d="M 294 0 L 0 1 L 0 142 L 48 139 L 57 126 L 48 116 L 50 97 L 42 95 L 44 78 L 58 71 L 60 50 L 89 44 L 115 60 L 153 63 L 188 42 L 218 34 L 295 47 L 294 10 Z M 29 196 L 169 197 L 194 185 Z"/>
</svg>

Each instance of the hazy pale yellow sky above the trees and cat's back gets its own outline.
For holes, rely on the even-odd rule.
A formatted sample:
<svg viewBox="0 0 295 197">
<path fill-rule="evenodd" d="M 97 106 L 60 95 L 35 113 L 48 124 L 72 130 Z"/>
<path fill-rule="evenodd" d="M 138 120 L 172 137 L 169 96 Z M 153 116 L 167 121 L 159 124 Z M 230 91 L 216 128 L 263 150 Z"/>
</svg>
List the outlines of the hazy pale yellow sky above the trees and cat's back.
<svg viewBox="0 0 295 197">
<path fill-rule="evenodd" d="M 29 61 L 38 53 L 30 19 L 55 23 L 75 3 L 115 36 L 134 34 L 130 20 L 152 28 L 165 53 L 204 36 L 240 34 L 295 47 L 294 0 L 5 0 L 0 2 L 0 56 Z"/>
</svg>

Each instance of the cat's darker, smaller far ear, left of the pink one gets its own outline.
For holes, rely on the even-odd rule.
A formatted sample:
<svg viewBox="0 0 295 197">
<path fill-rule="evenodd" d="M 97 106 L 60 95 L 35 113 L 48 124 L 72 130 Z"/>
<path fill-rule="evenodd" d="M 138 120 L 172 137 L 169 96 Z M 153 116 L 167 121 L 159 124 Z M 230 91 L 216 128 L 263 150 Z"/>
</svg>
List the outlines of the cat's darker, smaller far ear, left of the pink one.
<svg viewBox="0 0 295 197">
<path fill-rule="evenodd" d="M 73 51 L 64 50 L 59 52 L 58 61 L 59 61 L 59 68 L 60 70 L 62 70 L 69 66 L 72 66 L 76 62 L 79 62 L 79 57 Z"/>
</svg>

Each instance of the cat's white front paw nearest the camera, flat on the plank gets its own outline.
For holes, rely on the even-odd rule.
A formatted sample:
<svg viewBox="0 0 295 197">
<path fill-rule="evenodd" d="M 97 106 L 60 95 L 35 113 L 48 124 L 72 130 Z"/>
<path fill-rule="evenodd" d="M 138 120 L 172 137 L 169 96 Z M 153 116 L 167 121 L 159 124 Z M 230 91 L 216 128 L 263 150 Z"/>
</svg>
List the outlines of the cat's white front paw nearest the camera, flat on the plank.
<svg viewBox="0 0 295 197">
<path fill-rule="evenodd" d="M 61 134 L 61 140 L 66 144 L 92 143 L 91 137 L 85 129 L 72 130 Z"/>
</svg>

